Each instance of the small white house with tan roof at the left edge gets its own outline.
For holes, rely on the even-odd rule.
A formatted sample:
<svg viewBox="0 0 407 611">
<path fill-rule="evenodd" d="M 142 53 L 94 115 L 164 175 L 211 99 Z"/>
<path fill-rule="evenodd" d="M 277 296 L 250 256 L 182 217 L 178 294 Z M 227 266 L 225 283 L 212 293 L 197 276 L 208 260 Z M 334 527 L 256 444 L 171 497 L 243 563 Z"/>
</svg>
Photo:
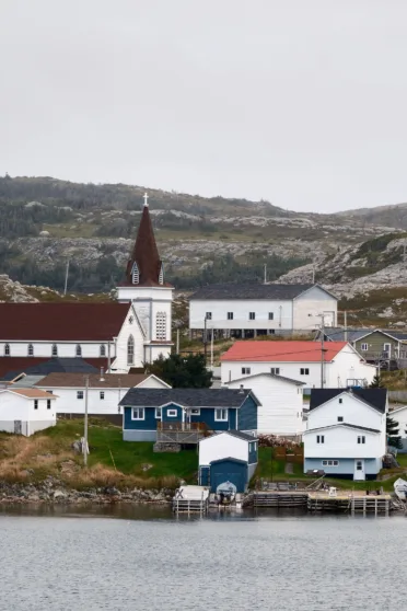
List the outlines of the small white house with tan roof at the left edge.
<svg viewBox="0 0 407 611">
<path fill-rule="evenodd" d="M 56 400 L 39 389 L 0 389 L 0 430 L 30 436 L 55 426 Z"/>
</svg>

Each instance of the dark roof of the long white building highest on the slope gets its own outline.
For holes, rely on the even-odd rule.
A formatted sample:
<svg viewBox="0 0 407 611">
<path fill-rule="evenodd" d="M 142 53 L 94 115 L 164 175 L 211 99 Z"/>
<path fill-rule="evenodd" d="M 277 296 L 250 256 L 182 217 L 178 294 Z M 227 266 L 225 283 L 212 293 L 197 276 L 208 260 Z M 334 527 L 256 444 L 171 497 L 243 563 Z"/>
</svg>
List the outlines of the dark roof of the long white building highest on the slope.
<svg viewBox="0 0 407 611">
<path fill-rule="evenodd" d="M 195 299 L 294 299 L 306 290 L 317 285 L 260 285 L 247 284 L 219 284 L 209 285 L 198 289 L 189 297 Z M 318 287 L 321 288 L 321 287 Z M 324 290 L 324 289 L 322 289 Z"/>
</svg>

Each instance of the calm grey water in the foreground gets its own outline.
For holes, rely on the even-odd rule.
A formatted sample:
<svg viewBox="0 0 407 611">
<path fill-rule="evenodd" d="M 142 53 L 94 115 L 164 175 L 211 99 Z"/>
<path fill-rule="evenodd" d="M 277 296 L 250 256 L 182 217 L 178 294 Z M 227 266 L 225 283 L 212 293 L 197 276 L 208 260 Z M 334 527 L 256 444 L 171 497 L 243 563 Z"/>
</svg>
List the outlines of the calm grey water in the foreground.
<svg viewBox="0 0 407 611">
<path fill-rule="evenodd" d="M 404 517 L 0 509 L 0 541 L 1 611 L 406 608 Z"/>
</svg>

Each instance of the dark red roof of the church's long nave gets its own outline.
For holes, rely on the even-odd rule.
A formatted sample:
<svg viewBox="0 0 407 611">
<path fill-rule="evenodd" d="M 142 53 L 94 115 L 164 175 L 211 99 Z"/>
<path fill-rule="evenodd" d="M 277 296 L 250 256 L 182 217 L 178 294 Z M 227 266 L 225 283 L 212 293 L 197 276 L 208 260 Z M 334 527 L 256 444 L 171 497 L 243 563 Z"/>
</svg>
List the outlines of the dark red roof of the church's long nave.
<svg viewBox="0 0 407 611">
<path fill-rule="evenodd" d="M 125 322 L 129 303 L 0 303 L 0 339 L 107 342 Z"/>
</svg>

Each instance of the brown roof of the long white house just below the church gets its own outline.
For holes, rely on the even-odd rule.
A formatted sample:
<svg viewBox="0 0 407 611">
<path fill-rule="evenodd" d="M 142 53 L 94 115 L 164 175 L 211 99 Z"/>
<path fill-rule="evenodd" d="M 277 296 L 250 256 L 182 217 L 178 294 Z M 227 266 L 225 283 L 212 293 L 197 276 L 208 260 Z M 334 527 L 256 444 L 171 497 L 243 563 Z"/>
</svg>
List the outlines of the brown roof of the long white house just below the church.
<svg viewBox="0 0 407 611">
<path fill-rule="evenodd" d="M 149 378 L 144 373 L 49 373 L 37 382 L 39 388 L 81 388 L 85 387 L 85 377 L 89 377 L 90 389 L 131 389 Z"/>
</svg>

